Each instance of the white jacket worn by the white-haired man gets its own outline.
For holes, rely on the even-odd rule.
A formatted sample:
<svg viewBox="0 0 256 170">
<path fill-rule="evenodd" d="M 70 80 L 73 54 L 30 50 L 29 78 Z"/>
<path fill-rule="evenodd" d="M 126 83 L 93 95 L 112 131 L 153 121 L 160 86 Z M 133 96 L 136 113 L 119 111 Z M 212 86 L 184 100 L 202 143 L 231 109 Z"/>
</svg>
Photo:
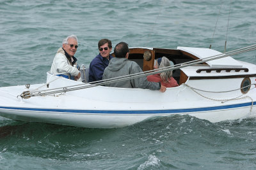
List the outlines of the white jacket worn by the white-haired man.
<svg viewBox="0 0 256 170">
<path fill-rule="evenodd" d="M 77 63 L 75 64 L 77 65 Z M 76 67 L 72 66 L 72 64 L 65 56 L 65 52 L 62 48 L 58 49 L 52 62 L 51 74 L 57 73 L 69 73 L 71 74 L 71 76 L 76 76 L 77 74 L 79 74 L 79 70 Z"/>
</svg>

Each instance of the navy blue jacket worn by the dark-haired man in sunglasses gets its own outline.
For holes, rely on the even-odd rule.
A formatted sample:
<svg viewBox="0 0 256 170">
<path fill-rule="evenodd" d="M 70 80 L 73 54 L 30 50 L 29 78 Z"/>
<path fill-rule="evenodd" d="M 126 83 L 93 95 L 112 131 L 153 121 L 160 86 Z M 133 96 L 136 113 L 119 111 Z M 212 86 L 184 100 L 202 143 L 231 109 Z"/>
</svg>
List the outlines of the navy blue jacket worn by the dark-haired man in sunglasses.
<svg viewBox="0 0 256 170">
<path fill-rule="evenodd" d="M 109 55 L 109 60 L 113 58 Z M 102 57 L 99 53 L 91 62 L 89 70 L 89 82 L 102 80 L 104 69 L 108 66 L 109 60 Z"/>
</svg>

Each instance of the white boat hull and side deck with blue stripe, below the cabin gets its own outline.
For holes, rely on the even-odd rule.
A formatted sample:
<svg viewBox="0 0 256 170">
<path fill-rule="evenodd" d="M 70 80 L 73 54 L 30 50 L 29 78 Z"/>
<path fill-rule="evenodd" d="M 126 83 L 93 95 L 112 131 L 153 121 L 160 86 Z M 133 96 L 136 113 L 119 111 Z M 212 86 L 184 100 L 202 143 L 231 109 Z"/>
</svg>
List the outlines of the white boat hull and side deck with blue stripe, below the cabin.
<svg viewBox="0 0 256 170">
<path fill-rule="evenodd" d="M 59 78 L 54 83 L 50 83 L 50 87 L 79 83 Z M 42 85 L 31 85 L 30 89 L 36 89 Z M 237 97 L 237 93 L 229 92 L 228 96 L 227 94 L 221 96 L 221 94 L 201 92 L 211 97 L 206 99 L 186 85 L 167 89 L 164 93 L 145 89 L 92 87 L 55 96 L 21 99 L 17 94 L 26 90 L 24 87 L 0 88 L 2 117 L 76 127 L 113 128 L 132 125 L 147 118 L 168 115 L 188 114 L 211 122 L 220 122 L 249 117 L 255 113 L 254 104 L 252 106 L 252 99 L 253 101 L 256 99 L 255 89 L 246 94 L 250 98 L 242 97 L 221 103 L 211 99 L 232 99 Z"/>
</svg>

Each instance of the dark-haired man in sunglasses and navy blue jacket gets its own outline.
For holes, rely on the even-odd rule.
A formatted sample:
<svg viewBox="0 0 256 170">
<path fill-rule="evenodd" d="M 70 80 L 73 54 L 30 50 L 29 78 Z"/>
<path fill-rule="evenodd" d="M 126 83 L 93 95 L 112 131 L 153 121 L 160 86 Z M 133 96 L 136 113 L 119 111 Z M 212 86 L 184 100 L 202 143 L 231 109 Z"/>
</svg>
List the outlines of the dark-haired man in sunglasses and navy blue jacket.
<svg viewBox="0 0 256 170">
<path fill-rule="evenodd" d="M 97 55 L 90 64 L 89 82 L 102 80 L 104 69 L 108 66 L 109 60 L 113 58 L 110 55 L 112 43 L 109 39 L 100 39 L 98 43 L 99 55 Z"/>
</svg>

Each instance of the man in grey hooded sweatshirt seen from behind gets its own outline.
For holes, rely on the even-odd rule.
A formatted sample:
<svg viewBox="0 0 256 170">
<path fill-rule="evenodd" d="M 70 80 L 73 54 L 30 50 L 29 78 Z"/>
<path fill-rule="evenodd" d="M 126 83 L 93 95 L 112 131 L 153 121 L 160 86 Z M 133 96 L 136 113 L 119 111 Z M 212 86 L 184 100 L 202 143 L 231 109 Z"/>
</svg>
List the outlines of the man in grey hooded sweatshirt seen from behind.
<svg viewBox="0 0 256 170">
<path fill-rule="evenodd" d="M 142 72 L 140 66 L 136 62 L 128 60 L 129 48 L 127 43 L 118 43 L 115 46 L 114 53 L 115 57 L 110 60 L 108 67 L 104 70 L 102 76 L 103 80 Z M 161 83 L 147 81 L 146 76 L 108 83 L 106 86 L 160 90 L 161 92 L 166 91 L 166 87 L 161 85 Z"/>
</svg>

